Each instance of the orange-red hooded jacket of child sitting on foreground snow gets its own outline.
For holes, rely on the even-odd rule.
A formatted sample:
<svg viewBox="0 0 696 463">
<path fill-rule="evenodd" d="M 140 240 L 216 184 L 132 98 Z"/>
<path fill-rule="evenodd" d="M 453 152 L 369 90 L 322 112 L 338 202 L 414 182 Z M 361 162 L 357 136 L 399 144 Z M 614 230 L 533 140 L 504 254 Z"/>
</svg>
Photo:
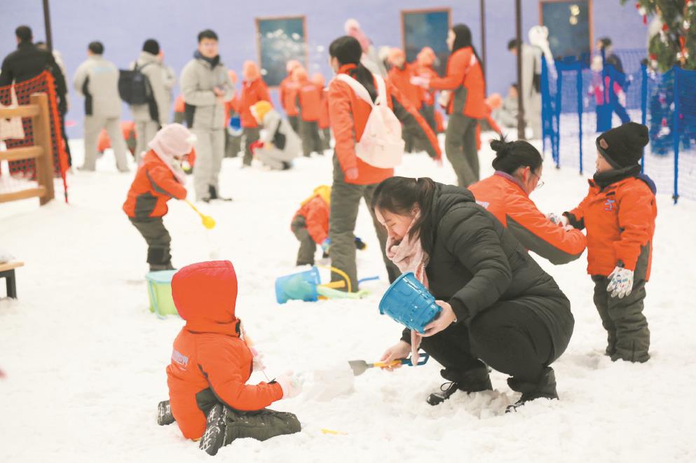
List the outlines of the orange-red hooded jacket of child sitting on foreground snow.
<svg viewBox="0 0 696 463">
<path fill-rule="evenodd" d="M 174 340 L 167 367 L 169 398 L 184 437 L 205 431 L 200 392 L 212 392 L 236 410 L 261 410 L 282 399 L 277 382 L 247 385 L 252 352 L 235 316 L 237 276 L 230 261 L 187 265 L 172 278 L 172 297 L 186 325 Z"/>
</svg>

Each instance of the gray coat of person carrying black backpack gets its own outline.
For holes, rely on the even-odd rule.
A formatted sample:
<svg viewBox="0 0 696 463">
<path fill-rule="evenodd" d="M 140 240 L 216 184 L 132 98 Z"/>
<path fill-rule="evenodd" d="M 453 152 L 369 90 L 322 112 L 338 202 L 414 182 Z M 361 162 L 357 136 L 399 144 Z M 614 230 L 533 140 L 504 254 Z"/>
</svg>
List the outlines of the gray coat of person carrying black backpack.
<svg viewBox="0 0 696 463">
<path fill-rule="evenodd" d="M 159 123 L 159 125 L 169 123 L 172 106 L 172 97 L 170 93 L 172 84 L 169 81 L 165 81 L 165 75 L 168 69 L 158 60 L 157 55 L 147 53 L 146 51 L 141 52 L 137 61 L 130 64 L 130 69 L 135 69 L 135 64 L 137 64 L 142 74 L 147 77 L 150 83 L 152 96 L 157 106 L 158 120 L 155 122 Z M 153 120 L 147 104 L 130 106 L 130 111 L 133 113 L 133 120 L 135 120 L 135 122 L 148 122 L 149 120 Z"/>
</svg>

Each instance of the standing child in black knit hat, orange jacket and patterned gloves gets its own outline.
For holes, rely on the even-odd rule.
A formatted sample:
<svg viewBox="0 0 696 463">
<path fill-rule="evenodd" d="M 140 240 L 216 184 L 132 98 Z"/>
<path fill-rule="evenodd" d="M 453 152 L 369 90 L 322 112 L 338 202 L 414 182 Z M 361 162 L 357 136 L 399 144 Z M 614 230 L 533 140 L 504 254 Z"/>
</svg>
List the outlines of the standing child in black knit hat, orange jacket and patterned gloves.
<svg viewBox="0 0 696 463">
<path fill-rule="evenodd" d="M 564 224 L 587 228 L 587 272 L 594 304 L 607 331 L 612 360 L 650 358 L 650 330 L 643 315 L 655 233 L 655 184 L 641 174 L 648 127 L 633 122 L 596 139 L 597 172 L 580 205 Z"/>
</svg>

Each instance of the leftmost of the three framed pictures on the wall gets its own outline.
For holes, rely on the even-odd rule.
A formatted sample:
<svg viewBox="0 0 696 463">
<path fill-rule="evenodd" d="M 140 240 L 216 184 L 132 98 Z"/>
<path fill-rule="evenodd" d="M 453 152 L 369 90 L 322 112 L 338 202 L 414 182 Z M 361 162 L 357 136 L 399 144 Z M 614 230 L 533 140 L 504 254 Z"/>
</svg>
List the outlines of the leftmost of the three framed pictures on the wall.
<svg viewBox="0 0 696 463">
<path fill-rule="evenodd" d="M 280 85 L 287 76 L 285 64 L 298 60 L 307 66 L 307 35 L 304 16 L 257 18 L 259 64 L 269 87 Z"/>
</svg>

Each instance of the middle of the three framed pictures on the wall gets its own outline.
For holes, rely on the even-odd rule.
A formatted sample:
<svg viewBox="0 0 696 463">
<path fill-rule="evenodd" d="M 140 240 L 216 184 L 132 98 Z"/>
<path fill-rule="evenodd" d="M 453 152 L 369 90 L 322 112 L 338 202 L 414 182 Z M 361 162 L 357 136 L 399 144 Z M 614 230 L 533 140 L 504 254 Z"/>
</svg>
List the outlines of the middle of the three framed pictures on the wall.
<svg viewBox="0 0 696 463">
<path fill-rule="evenodd" d="M 414 62 L 423 47 L 430 47 L 437 55 L 435 71 L 444 75 L 449 57 L 446 40 L 450 27 L 450 8 L 403 10 L 401 29 L 406 60 Z"/>
</svg>

